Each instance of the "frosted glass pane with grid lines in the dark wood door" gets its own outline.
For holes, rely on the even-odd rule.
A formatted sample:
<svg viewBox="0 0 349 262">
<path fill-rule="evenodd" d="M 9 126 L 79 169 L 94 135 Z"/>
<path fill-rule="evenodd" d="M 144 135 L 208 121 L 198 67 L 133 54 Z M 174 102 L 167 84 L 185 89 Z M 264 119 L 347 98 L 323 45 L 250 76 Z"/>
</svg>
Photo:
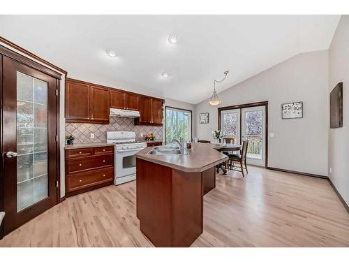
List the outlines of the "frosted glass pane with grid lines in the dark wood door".
<svg viewBox="0 0 349 262">
<path fill-rule="evenodd" d="M 48 197 L 47 82 L 17 72 L 17 212 Z"/>
</svg>

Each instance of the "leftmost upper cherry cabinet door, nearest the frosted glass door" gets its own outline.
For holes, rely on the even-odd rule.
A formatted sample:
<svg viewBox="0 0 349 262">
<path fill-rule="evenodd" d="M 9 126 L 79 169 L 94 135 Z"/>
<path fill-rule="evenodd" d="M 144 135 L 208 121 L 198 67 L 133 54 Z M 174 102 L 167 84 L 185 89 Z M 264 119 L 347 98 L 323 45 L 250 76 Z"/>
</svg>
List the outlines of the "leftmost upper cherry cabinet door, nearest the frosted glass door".
<svg viewBox="0 0 349 262">
<path fill-rule="evenodd" d="M 66 122 L 89 120 L 89 85 L 66 81 Z"/>
</svg>

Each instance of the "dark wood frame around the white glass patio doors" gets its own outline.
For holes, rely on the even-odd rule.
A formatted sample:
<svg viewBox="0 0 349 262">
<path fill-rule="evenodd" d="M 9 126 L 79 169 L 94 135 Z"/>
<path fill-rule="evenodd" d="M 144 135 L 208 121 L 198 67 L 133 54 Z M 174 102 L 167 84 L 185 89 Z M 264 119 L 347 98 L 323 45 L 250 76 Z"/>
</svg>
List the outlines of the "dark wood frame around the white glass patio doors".
<svg viewBox="0 0 349 262">
<path fill-rule="evenodd" d="M 223 108 L 218 108 L 218 129 L 221 126 L 221 111 L 239 109 L 240 110 L 240 141 L 242 140 L 242 108 L 254 108 L 256 106 L 265 106 L 265 168 L 268 168 L 268 101 L 244 103 L 241 105 L 230 105 Z"/>
</svg>

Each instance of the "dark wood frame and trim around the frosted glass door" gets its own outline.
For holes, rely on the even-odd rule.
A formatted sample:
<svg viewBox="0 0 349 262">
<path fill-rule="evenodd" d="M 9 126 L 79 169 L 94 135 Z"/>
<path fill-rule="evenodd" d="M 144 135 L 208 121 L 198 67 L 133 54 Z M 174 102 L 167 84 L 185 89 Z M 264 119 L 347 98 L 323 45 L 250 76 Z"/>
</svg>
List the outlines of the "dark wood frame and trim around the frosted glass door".
<svg viewBox="0 0 349 262">
<path fill-rule="evenodd" d="M 47 75 L 52 76 L 53 78 L 56 79 L 55 81 L 55 86 L 56 86 L 56 134 L 57 134 L 57 143 L 56 143 L 56 150 L 57 150 L 57 156 L 56 156 L 56 170 L 57 170 L 57 200 L 56 204 L 60 202 L 60 145 L 59 145 L 59 89 L 60 89 L 60 80 L 61 80 L 61 74 L 57 73 L 57 71 L 53 71 L 50 68 L 47 68 L 43 66 L 42 64 L 37 63 L 36 61 L 33 61 L 27 57 L 22 56 L 22 54 L 18 54 L 17 52 L 14 52 L 13 50 L 10 50 L 3 45 L 0 45 L 0 211 L 3 210 L 4 208 L 4 199 L 3 199 L 3 57 L 8 57 L 10 59 L 13 59 L 14 61 L 19 62 L 20 64 L 23 64 L 24 66 L 28 66 L 29 68 L 34 68 L 37 71 L 40 71 L 42 73 L 45 73 Z M 0 226 L 0 240 L 3 238 L 3 223 Z"/>
</svg>

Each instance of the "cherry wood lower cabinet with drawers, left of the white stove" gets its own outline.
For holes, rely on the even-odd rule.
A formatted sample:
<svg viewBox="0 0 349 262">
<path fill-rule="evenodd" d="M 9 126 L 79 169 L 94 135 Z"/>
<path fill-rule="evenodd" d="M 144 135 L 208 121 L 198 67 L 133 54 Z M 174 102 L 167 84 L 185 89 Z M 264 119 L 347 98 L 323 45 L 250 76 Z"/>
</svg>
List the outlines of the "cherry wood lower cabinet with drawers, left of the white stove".
<svg viewBox="0 0 349 262">
<path fill-rule="evenodd" d="M 66 149 L 66 196 L 114 182 L 114 147 Z"/>
</svg>

